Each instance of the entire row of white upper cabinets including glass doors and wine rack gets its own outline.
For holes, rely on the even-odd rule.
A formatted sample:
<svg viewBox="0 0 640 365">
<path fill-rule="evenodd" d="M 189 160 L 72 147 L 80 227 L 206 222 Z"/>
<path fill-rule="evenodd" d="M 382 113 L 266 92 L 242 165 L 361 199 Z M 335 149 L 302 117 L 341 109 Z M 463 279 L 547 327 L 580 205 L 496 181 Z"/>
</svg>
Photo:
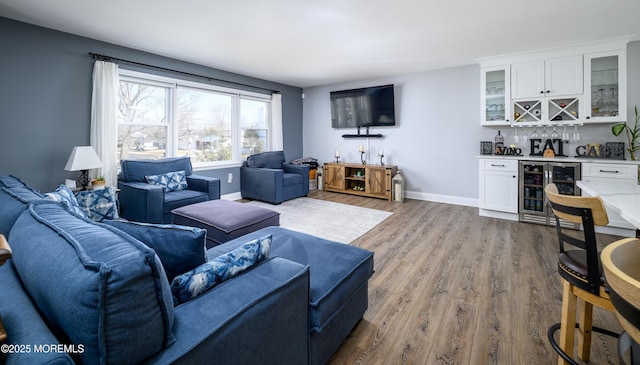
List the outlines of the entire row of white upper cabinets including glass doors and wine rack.
<svg viewBox="0 0 640 365">
<path fill-rule="evenodd" d="M 620 38 L 478 60 L 482 125 L 625 120 L 629 41 Z M 492 84 L 496 78 L 498 86 Z"/>
</svg>

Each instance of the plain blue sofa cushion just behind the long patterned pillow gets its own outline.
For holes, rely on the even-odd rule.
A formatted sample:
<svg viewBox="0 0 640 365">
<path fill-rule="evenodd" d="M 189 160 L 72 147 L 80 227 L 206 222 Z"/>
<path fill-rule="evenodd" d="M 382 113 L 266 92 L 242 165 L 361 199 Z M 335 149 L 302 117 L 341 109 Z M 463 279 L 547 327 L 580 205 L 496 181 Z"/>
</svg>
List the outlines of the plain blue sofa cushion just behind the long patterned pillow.
<svg viewBox="0 0 640 365">
<path fill-rule="evenodd" d="M 175 224 L 138 223 L 123 220 L 104 220 L 151 247 L 162 262 L 170 283 L 174 277 L 206 262 L 207 231 Z"/>
</svg>

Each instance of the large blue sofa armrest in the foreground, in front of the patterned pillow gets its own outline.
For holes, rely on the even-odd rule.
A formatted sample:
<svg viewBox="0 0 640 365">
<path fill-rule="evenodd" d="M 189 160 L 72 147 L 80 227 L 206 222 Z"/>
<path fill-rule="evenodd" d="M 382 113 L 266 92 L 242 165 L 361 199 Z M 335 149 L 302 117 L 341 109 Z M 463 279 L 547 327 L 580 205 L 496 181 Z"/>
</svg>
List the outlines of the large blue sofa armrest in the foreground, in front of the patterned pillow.
<svg viewBox="0 0 640 365">
<path fill-rule="evenodd" d="M 149 364 L 306 364 L 309 267 L 269 259 L 175 308 L 176 342 Z"/>
</svg>

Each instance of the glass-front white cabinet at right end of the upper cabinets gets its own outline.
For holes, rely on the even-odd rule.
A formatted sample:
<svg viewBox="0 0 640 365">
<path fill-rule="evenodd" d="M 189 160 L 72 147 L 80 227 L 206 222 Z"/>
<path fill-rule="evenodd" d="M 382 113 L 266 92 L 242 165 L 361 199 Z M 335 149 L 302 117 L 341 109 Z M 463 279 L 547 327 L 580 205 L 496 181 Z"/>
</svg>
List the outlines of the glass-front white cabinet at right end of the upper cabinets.
<svg viewBox="0 0 640 365">
<path fill-rule="evenodd" d="M 584 56 L 585 123 L 626 120 L 627 67 L 623 51 Z"/>
</svg>

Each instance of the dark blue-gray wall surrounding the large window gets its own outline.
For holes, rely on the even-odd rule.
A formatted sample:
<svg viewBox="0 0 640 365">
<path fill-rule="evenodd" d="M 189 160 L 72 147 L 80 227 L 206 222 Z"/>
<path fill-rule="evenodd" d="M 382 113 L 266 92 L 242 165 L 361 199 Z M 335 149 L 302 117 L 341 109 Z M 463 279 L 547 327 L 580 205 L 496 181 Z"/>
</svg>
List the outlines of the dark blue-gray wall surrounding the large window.
<svg viewBox="0 0 640 365">
<path fill-rule="evenodd" d="M 18 176 L 42 191 L 53 190 L 65 178 L 75 178 L 78 173 L 64 171 L 64 165 L 73 146 L 89 144 L 93 71 L 93 59 L 89 52 L 279 90 L 282 93 L 286 156 L 288 159 L 302 157 L 302 89 L 298 87 L 190 64 L 2 17 L 0 45 L 0 175 Z M 181 77 L 125 63 L 120 67 Z M 198 78 L 192 80 L 203 82 Z M 227 183 L 229 172 L 234 174 L 231 184 Z M 221 178 L 223 194 L 240 190 L 238 168 L 198 173 Z"/>
</svg>

